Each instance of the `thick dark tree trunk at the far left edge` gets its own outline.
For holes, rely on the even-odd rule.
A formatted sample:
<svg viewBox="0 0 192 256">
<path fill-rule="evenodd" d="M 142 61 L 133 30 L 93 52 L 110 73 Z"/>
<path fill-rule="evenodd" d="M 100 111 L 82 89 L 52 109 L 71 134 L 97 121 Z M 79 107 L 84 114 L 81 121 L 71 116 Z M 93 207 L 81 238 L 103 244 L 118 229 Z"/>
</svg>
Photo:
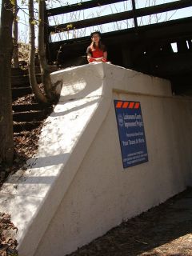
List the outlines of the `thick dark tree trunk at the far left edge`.
<svg viewBox="0 0 192 256">
<path fill-rule="evenodd" d="M 13 51 L 13 13 L 10 0 L 2 0 L 0 24 L 0 163 L 11 165 L 14 157 L 14 135 L 11 94 L 11 57 Z"/>
</svg>

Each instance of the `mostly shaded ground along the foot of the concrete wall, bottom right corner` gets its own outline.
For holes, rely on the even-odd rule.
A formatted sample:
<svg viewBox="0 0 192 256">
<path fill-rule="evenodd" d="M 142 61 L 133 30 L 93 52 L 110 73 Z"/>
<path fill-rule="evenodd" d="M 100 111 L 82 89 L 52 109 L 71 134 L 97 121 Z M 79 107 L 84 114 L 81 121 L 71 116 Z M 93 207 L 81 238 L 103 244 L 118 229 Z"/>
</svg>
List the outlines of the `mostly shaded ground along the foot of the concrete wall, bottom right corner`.
<svg viewBox="0 0 192 256">
<path fill-rule="evenodd" d="M 80 255 L 192 255 L 192 188 L 68 254 Z"/>
</svg>

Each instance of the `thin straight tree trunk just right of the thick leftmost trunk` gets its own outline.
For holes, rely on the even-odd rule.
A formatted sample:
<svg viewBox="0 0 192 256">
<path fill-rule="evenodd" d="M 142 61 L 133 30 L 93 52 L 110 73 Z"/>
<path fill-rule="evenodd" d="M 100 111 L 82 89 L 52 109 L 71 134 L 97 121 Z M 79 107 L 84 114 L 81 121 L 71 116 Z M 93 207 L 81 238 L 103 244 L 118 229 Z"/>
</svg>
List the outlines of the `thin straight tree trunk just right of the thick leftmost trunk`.
<svg viewBox="0 0 192 256">
<path fill-rule="evenodd" d="M 13 23 L 13 42 L 14 42 L 14 56 L 13 66 L 18 67 L 18 2 L 14 2 L 14 23 Z"/>
</svg>

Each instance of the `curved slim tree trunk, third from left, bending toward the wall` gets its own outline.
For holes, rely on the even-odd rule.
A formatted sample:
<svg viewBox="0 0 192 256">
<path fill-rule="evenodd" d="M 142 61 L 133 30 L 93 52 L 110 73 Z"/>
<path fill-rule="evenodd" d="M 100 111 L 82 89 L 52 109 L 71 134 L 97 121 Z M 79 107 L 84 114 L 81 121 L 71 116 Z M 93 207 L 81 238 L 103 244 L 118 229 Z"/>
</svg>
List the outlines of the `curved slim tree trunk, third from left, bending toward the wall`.
<svg viewBox="0 0 192 256">
<path fill-rule="evenodd" d="M 46 96 L 42 94 L 41 90 L 38 87 L 37 79 L 35 76 L 34 70 L 34 56 L 35 56 L 35 46 L 34 46 L 34 1 L 29 0 L 29 26 L 30 26 L 30 54 L 29 54 L 29 77 L 30 77 L 30 85 L 32 90 L 34 91 L 34 96 L 38 99 L 39 102 L 47 102 Z"/>
</svg>

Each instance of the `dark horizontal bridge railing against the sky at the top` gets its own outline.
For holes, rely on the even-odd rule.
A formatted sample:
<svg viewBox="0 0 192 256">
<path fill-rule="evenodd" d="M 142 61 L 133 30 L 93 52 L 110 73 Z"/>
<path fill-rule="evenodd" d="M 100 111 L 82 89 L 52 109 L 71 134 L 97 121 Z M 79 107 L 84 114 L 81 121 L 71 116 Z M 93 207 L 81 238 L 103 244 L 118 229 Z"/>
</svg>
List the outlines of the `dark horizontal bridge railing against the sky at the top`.
<svg viewBox="0 0 192 256">
<path fill-rule="evenodd" d="M 119 0 L 102 0 L 102 1 L 92 0 L 92 1 L 71 4 L 67 6 L 61 6 L 54 9 L 46 10 L 46 18 L 48 20 L 48 18 L 56 15 L 73 13 L 79 10 L 86 10 L 86 9 L 91 10 L 94 7 L 106 6 L 106 5 L 115 4 L 118 2 L 123 2 L 123 1 L 122 0 L 120 1 Z M 65 32 L 69 33 L 70 31 L 73 31 L 73 30 L 85 29 L 88 27 L 104 25 L 106 23 L 111 23 L 111 22 L 121 22 L 123 20 L 129 20 L 129 19 L 134 20 L 134 24 L 132 27 L 134 27 L 135 30 L 138 30 L 138 26 L 139 26 L 138 18 L 142 18 L 147 15 L 161 14 L 168 11 L 178 10 L 178 9 L 182 9 L 190 6 L 192 6 L 191 0 L 182 0 L 182 1 L 174 1 L 174 2 L 164 3 L 164 4 L 159 4 L 156 6 L 136 8 L 135 0 L 131 0 L 131 10 L 126 10 L 126 11 L 118 12 L 115 14 L 102 15 L 97 18 L 86 18 L 86 19 L 78 20 L 74 22 L 65 22 L 65 23 L 54 25 L 54 26 L 48 26 L 47 33 L 50 35 L 50 42 L 51 42 L 52 34 L 65 33 Z M 73 39 L 74 39 L 73 41 L 77 40 L 76 38 L 73 38 Z"/>
</svg>

